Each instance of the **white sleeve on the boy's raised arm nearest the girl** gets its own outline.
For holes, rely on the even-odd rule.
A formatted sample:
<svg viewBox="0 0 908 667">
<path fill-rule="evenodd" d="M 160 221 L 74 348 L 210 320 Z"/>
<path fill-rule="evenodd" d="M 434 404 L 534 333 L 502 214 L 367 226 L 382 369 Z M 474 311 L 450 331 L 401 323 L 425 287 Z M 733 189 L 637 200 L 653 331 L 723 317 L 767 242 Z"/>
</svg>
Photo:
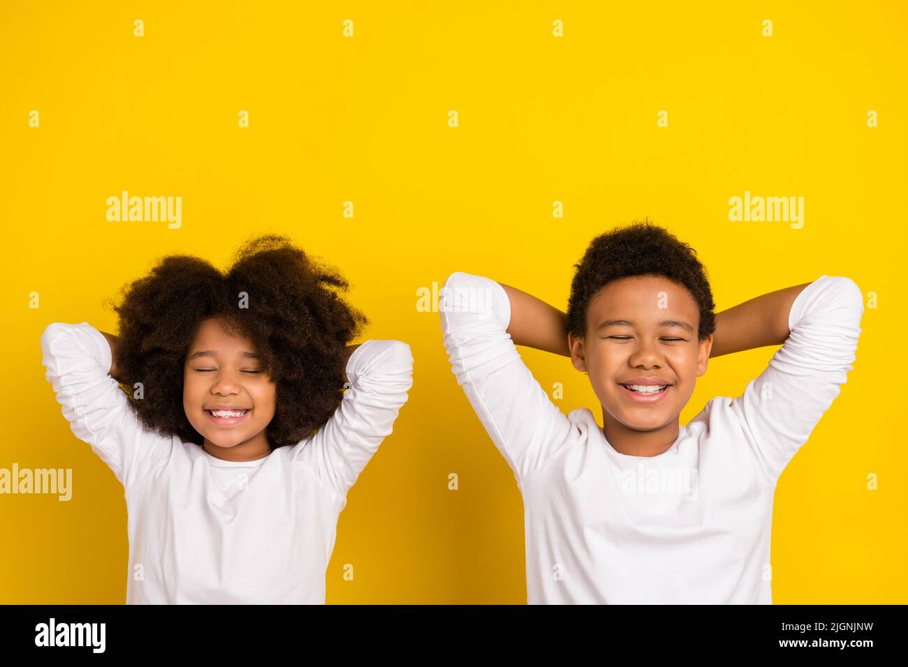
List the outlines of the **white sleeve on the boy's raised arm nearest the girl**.
<svg viewBox="0 0 908 667">
<path fill-rule="evenodd" d="M 510 299 L 497 281 L 457 271 L 439 294 L 451 370 L 518 486 L 571 436 L 508 333 Z"/>
</svg>

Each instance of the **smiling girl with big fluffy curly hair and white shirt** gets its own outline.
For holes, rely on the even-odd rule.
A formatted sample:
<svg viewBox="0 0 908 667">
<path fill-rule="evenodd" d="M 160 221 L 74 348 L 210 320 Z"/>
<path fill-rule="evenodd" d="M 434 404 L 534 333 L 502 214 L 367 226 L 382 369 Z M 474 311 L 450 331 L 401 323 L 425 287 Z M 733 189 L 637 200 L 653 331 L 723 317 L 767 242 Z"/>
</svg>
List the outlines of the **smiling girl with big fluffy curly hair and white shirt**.
<svg viewBox="0 0 908 667">
<path fill-rule="evenodd" d="M 64 417 L 123 484 L 126 603 L 324 603 L 338 515 L 412 385 L 406 343 L 348 345 L 368 323 L 348 287 L 264 236 L 226 273 L 163 259 L 119 336 L 44 329 Z"/>
</svg>

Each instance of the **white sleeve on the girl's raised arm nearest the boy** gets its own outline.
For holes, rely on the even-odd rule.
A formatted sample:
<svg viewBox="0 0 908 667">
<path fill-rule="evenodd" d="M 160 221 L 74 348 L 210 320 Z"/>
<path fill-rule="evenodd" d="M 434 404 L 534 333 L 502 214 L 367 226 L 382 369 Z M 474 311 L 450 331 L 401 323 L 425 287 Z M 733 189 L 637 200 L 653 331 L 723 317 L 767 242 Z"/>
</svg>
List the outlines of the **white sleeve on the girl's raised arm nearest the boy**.
<svg viewBox="0 0 908 667">
<path fill-rule="evenodd" d="M 341 405 L 295 455 L 341 496 L 393 432 L 407 402 L 413 385 L 410 346 L 400 340 L 367 340 L 353 350 L 346 372 L 350 387 Z"/>
</svg>

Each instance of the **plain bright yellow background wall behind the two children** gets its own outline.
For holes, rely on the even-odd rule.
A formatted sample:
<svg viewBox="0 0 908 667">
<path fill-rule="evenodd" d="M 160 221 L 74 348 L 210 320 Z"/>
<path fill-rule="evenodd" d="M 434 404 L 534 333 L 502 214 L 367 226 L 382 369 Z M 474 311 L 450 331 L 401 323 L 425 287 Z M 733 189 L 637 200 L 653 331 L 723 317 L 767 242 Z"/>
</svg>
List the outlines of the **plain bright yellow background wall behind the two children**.
<svg viewBox="0 0 908 667">
<path fill-rule="evenodd" d="M 878 295 L 841 396 L 779 481 L 773 593 L 908 603 L 908 10 L 622 5 L 5 2 L 0 467 L 72 467 L 74 497 L 0 495 L 0 602 L 125 599 L 123 489 L 44 380 L 46 324 L 115 332 L 104 301 L 163 254 L 223 267 L 276 231 L 350 279 L 366 338 L 404 340 L 416 360 L 394 433 L 341 514 L 328 603 L 525 603 L 518 487 L 416 291 L 465 270 L 564 309 L 588 241 L 648 215 L 698 250 L 717 310 L 824 273 Z M 182 196 L 182 228 L 106 221 L 122 190 Z M 745 190 L 804 196 L 804 228 L 729 221 Z M 682 423 L 737 396 L 774 352 L 712 360 Z M 543 387 L 564 383 L 564 412 L 601 419 L 568 359 L 521 354 Z"/>
</svg>

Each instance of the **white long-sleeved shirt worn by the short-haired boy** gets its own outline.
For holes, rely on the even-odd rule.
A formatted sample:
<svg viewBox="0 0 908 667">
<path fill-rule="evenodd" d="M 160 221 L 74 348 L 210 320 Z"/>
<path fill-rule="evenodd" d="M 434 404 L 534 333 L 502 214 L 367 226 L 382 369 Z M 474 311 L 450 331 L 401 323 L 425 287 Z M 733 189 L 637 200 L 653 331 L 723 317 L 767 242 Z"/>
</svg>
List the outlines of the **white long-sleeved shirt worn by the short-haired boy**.
<svg viewBox="0 0 908 667">
<path fill-rule="evenodd" d="M 621 454 L 589 409 L 558 409 L 507 332 L 498 282 L 456 272 L 444 288 L 451 368 L 523 496 L 528 603 L 772 602 L 775 483 L 852 370 L 853 280 L 804 288 L 768 367 L 658 456 Z"/>
</svg>

